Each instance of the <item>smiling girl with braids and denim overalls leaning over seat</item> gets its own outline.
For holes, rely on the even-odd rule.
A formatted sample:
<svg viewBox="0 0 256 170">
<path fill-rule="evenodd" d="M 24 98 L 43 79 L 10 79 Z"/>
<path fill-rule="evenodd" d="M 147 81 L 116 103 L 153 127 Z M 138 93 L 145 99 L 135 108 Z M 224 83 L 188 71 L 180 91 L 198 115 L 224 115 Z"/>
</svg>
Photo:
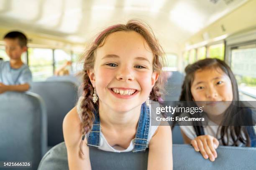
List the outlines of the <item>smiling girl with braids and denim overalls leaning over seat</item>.
<svg viewBox="0 0 256 170">
<path fill-rule="evenodd" d="M 84 95 L 64 118 L 70 170 L 91 169 L 89 147 L 149 148 L 148 169 L 172 169 L 169 126 L 151 126 L 150 100 L 161 97 L 163 52 L 141 22 L 103 30 L 84 56 Z"/>
</svg>

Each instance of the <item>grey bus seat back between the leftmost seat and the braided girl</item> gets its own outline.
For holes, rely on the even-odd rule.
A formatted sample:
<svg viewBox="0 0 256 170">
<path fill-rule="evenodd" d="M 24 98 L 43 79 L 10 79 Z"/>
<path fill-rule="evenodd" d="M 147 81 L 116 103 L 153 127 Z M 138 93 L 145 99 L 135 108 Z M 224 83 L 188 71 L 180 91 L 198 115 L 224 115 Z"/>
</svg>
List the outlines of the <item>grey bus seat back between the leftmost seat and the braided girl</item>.
<svg viewBox="0 0 256 170">
<path fill-rule="evenodd" d="M 33 82 L 31 92 L 40 95 L 47 108 L 48 146 L 64 141 L 62 122 L 77 102 L 78 87 L 72 82 Z"/>
</svg>

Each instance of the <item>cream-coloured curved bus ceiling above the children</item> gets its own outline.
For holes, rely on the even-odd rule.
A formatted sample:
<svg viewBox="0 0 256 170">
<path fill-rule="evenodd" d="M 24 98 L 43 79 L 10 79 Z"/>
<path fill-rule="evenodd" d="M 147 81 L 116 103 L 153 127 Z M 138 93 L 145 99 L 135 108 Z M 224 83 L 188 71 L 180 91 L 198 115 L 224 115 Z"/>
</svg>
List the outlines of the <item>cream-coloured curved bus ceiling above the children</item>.
<svg viewBox="0 0 256 170">
<path fill-rule="evenodd" d="M 135 18 L 151 25 L 167 52 L 181 53 L 185 43 L 195 44 L 238 31 L 232 28 L 232 22 L 215 23 L 225 18 L 237 22 L 236 11 L 253 16 L 251 10 L 255 11 L 255 6 L 253 0 L 1 0 L 0 37 L 8 30 L 19 29 L 27 33 L 31 44 L 84 45 L 107 25 Z M 47 42 L 46 38 L 54 42 Z"/>
</svg>

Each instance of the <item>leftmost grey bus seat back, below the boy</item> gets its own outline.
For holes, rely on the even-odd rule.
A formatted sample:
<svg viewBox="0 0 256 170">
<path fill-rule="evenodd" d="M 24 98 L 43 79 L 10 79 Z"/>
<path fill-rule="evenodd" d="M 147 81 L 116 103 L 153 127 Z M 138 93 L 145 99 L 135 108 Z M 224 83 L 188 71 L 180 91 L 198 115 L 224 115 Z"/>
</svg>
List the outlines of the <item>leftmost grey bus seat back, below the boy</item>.
<svg viewBox="0 0 256 170">
<path fill-rule="evenodd" d="M 46 119 L 46 106 L 39 95 L 0 94 L 0 161 L 30 161 L 29 169 L 36 170 L 47 152 Z"/>
</svg>

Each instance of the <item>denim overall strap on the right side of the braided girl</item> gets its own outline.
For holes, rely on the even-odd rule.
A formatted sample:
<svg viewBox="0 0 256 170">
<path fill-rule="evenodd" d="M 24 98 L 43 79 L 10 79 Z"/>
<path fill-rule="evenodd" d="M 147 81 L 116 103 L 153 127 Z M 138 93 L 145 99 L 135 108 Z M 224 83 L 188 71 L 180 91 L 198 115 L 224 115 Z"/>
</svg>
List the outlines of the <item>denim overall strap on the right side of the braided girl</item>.
<svg viewBox="0 0 256 170">
<path fill-rule="evenodd" d="M 150 110 L 146 103 L 141 105 L 136 136 L 133 139 L 133 152 L 145 151 L 148 148 L 148 132 L 150 128 Z"/>
</svg>

